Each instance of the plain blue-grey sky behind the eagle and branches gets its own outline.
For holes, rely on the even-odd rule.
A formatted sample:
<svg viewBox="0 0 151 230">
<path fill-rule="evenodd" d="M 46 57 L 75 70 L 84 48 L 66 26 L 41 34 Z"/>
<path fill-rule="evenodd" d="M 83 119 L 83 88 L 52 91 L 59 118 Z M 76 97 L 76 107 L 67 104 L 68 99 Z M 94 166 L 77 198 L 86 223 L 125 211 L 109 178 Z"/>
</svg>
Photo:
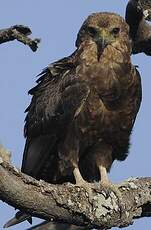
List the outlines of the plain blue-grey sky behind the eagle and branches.
<svg viewBox="0 0 151 230">
<path fill-rule="evenodd" d="M 34 86 L 35 76 L 49 63 L 74 51 L 77 32 L 92 12 L 109 11 L 122 16 L 127 0 L 5 0 L 1 1 L 0 28 L 15 24 L 28 25 L 33 36 L 42 39 L 38 52 L 18 42 L 0 45 L 0 142 L 12 152 L 13 163 L 20 167 L 24 148 L 24 110 L 30 102 L 27 91 Z M 142 76 L 143 102 L 131 138 L 130 155 L 116 162 L 110 178 L 120 182 L 131 176 L 150 176 L 150 67 L 151 58 L 132 57 Z M 0 202 L 0 229 L 15 211 Z M 12 227 L 26 229 L 28 223 Z M 151 228 L 151 219 L 138 220 L 127 230 Z M 114 228 L 116 229 L 116 228 Z"/>
</svg>

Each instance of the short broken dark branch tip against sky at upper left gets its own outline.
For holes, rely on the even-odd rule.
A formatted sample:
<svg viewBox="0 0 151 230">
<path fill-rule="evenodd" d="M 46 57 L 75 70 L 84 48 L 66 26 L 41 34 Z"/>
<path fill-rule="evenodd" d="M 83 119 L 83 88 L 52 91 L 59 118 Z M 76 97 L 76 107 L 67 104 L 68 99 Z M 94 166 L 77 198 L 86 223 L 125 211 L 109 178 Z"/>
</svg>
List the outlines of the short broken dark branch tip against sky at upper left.
<svg viewBox="0 0 151 230">
<path fill-rule="evenodd" d="M 0 44 L 17 40 L 25 45 L 28 45 L 33 52 L 38 48 L 40 39 L 31 39 L 28 35 L 32 34 L 31 30 L 27 26 L 15 25 L 7 29 L 0 30 Z"/>
</svg>

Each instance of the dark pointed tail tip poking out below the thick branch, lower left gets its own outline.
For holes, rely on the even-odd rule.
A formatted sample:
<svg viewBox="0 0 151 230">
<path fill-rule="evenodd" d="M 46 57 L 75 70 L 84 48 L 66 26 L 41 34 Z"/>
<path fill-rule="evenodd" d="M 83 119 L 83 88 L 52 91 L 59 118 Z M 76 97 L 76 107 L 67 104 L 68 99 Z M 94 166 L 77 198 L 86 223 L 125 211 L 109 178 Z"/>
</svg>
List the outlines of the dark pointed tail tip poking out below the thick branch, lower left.
<svg viewBox="0 0 151 230">
<path fill-rule="evenodd" d="M 21 211 L 17 212 L 15 217 L 9 220 L 3 228 L 9 228 L 13 225 L 19 224 L 23 221 L 27 220 L 30 224 L 32 224 L 32 217 L 29 214 L 23 213 Z"/>
</svg>

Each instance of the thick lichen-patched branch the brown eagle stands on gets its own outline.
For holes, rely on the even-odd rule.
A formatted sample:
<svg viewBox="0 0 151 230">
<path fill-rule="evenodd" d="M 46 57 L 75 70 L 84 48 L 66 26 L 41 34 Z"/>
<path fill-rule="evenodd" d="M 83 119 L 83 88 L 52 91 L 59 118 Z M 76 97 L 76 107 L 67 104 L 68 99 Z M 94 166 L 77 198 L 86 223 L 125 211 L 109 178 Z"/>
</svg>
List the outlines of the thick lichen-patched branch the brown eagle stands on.
<svg viewBox="0 0 151 230">
<path fill-rule="evenodd" d="M 135 218 L 151 216 L 151 178 L 134 178 L 117 186 L 120 203 L 114 191 L 108 196 L 98 184 L 91 191 L 69 183 L 50 185 L 0 162 L 1 200 L 32 216 L 101 229 L 127 226 Z"/>
</svg>

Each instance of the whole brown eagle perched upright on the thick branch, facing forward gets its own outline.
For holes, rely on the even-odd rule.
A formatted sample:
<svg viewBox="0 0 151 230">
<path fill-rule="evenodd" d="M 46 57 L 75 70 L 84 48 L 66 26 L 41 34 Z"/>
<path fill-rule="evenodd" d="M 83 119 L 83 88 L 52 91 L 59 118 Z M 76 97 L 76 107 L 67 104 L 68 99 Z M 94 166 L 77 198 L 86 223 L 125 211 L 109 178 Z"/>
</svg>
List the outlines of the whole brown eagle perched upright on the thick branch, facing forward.
<svg viewBox="0 0 151 230">
<path fill-rule="evenodd" d="M 107 172 L 128 155 L 141 103 L 128 25 L 117 14 L 94 13 L 76 46 L 44 69 L 29 91 L 21 170 L 50 183 L 110 186 Z"/>
</svg>

